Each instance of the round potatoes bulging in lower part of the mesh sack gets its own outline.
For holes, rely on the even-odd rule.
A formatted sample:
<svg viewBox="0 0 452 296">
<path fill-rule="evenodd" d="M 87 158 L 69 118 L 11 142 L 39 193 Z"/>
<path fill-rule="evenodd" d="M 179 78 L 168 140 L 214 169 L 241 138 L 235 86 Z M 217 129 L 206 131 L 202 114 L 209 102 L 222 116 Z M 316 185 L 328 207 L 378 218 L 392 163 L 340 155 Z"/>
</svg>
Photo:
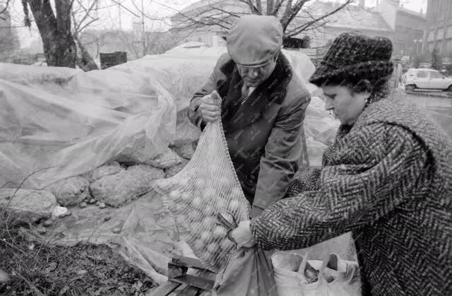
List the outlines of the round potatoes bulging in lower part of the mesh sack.
<svg viewBox="0 0 452 296">
<path fill-rule="evenodd" d="M 171 190 L 164 198 L 177 225 L 184 230 L 186 242 L 204 263 L 212 263 L 208 267 L 214 271 L 220 270 L 220 264 L 234 248 L 227 238 L 227 228 L 216 220 L 218 212 L 238 213 L 240 203 L 234 197 L 243 193 L 230 188 L 230 183 L 228 178 L 220 178 L 215 184 L 198 178 L 191 184 L 188 178 L 180 178 L 179 189 Z"/>
</svg>

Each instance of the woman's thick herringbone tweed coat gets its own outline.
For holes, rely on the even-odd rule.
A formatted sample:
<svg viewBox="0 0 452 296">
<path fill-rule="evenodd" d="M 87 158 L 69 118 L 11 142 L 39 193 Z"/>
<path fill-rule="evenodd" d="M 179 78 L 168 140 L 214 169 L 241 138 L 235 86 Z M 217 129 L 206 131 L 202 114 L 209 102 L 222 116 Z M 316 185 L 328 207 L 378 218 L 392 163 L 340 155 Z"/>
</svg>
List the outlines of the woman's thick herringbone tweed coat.
<svg viewBox="0 0 452 296">
<path fill-rule="evenodd" d="M 252 233 L 293 250 L 351 231 L 363 295 L 452 295 L 450 140 L 403 98 L 371 102 Z"/>
</svg>

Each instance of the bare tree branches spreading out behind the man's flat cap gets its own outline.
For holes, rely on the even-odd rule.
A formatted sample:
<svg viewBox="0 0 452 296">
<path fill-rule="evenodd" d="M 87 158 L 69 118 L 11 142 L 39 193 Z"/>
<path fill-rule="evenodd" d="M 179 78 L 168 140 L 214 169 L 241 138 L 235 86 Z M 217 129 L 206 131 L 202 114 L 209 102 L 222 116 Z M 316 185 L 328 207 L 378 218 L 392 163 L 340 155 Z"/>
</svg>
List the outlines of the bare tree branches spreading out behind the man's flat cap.
<svg viewBox="0 0 452 296">
<path fill-rule="evenodd" d="M 192 10 L 177 11 L 173 15 L 175 30 L 196 30 L 197 28 L 216 26 L 228 30 L 234 19 L 242 15 L 272 15 L 279 19 L 284 29 L 285 37 L 294 37 L 307 30 L 315 30 L 324 26 L 329 17 L 346 8 L 354 0 L 345 0 L 339 6 L 333 6 L 330 11 L 318 14 L 310 8 L 311 0 L 229 0 L 205 1 L 205 5 Z M 162 6 L 166 6 L 161 3 Z M 169 6 L 167 8 L 172 9 Z"/>
</svg>

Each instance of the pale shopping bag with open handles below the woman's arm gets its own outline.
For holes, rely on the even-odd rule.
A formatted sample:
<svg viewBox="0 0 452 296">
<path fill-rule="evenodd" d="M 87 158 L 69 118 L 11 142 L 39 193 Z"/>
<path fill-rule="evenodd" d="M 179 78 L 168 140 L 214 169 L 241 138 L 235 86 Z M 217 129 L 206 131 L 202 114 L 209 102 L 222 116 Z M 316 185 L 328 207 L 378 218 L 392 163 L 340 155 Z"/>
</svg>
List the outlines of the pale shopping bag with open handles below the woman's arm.
<svg viewBox="0 0 452 296">
<path fill-rule="evenodd" d="M 318 261 L 308 260 L 308 255 L 277 252 L 272 255 L 272 266 L 279 296 L 360 295 L 358 263 L 335 254 Z"/>
</svg>

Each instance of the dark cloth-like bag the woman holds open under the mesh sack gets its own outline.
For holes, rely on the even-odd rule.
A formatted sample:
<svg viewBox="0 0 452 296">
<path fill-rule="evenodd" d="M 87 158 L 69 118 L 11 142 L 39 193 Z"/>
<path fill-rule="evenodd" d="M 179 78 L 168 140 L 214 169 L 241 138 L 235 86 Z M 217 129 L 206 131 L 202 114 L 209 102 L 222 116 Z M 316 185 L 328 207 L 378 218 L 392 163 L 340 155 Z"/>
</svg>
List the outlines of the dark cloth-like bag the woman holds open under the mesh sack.
<svg viewBox="0 0 452 296">
<path fill-rule="evenodd" d="M 214 296 L 277 296 L 270 256 L 260 248 L 239 248 L 218 273 Z"/>
</svg>

